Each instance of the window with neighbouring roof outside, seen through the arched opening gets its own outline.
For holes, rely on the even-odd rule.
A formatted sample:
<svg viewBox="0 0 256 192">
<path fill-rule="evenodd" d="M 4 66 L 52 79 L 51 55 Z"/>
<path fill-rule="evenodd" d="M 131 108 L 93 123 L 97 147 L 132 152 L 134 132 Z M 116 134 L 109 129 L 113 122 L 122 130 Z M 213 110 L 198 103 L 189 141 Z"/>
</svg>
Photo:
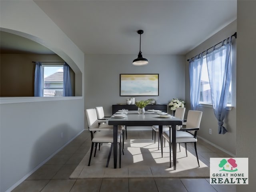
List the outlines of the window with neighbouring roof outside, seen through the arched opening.
<svg viewBox="0 0 256 192">
<path fill-rule="evenodd" d="M 44 97 L 63 96 L 63 66 L 43 65 Z"/>
</svg>

